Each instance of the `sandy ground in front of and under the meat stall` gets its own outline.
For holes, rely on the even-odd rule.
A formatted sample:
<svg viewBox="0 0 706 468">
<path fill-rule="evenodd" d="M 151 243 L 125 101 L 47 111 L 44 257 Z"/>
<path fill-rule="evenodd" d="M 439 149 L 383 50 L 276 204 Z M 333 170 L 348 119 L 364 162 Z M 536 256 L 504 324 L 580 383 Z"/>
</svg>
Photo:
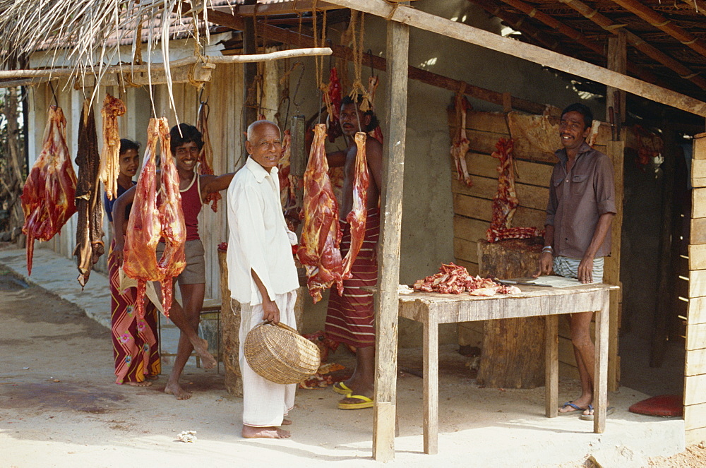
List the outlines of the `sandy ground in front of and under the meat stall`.
<svg viewBox="0 0 706 468">
<path fill-rule="evenodd" d="M 184 381 L 194 395 L 185 402 L 162 392 L 169 366 L 150 388 L 115 385 L 109 330 L 45 289 L 25 287 L 3 265 L 0 323 L 0 467 L 377 464 L 373 411 L 340 411 L 328 389 L 299 390 L 291 439 L 245 440 L 242 400 L 226 392 L 215 370 L 187 366 Z M 400 368 L 412 373 L 398 378 L 400 436 L 386 466 L 584 467 L 592 453 L 616 450 L 623 458 L 614 466 L 646 466 L 647 457 L 683 450 L 683 421 L 626 411 L 647 396 L 640 392 L 611 394 L 618 412 L 606 433 L 594 434 L 575 417 L 545 418 L 544 388 L 478 388 L 467 358 L 453 347 L 441 356 L 439 455 L 421 452 L 422 382 L 412 375 L 421 370 L 421 353 L 412 349 L 400 355 Z M 333 360 L 351 362 L 341 352 Z M 562 401 L 577 394 L 576 381 L 561 382 Z M 196 431 L 197 440 L 177 441 L 181 431 Z M 653 466 L 706 466 L 706 449 L 691 449 L 686 464 L 668 464 L 673 457 Z"/>
</svg>

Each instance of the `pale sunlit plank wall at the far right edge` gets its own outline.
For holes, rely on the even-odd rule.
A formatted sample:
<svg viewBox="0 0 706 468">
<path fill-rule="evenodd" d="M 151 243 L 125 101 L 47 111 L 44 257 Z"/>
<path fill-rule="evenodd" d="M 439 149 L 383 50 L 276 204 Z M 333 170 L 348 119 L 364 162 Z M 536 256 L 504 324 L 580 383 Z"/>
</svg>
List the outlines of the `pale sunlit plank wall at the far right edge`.
<svg viewBox="0 0 706 468">
<path fill-rule="evenodd" d="M 706 133 L 694 137 L 689 303 L 684 367 L 686 443 L 706 440 Z"/>
</svg>

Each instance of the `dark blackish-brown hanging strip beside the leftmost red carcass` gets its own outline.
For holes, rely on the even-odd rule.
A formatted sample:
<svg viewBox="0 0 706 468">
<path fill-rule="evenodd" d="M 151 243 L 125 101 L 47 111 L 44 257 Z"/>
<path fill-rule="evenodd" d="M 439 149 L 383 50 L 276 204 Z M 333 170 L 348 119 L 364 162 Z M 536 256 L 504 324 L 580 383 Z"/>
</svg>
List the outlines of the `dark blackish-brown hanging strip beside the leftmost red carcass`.
<svg viewBox="0 0 706 468">
<path fill-rule="evenodd" d="M 100 183 L 98 181 L 98 136 L 95 130 L 95 118 L 90 103 L 83 102 L 81 119 L 78 124 L 78 184 L 76 185 L 76 210 L 78 223 L 76 229 L 76 248 L 73 255 L 78 264 L 78 282 L 81 289 L 88 282 L 90 271 L 98 258 L 105 253 L 103 244 L 103 204 L 100 201 Z"/>
</svg>

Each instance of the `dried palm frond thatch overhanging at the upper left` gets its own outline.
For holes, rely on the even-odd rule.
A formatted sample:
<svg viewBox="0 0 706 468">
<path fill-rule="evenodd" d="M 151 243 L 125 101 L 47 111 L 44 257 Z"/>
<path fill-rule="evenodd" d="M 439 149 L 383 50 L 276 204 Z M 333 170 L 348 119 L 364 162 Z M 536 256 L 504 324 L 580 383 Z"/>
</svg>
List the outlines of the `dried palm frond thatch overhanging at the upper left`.
<svg viewBox="0 0 706 468">
<path fill-rule="evenodd" d="M 13 58 L 30 56 L 40 50 L 51 51 L 54 68 L 70 69 L 76 76 L 95 76 L 100 81 L 107 66 L 134 64 L 141 56 L 142 42 L 147 57 L 159 44 L 168 83 L 169 39 L 177 32 L 189 32 L 197 16 L 208 25 L 208 6 L 227 4 L 216 0 L 0 0 L 0 68 L 13 67 Z M 196 23 L 198 24 L 198 23 Z M 121 44 L 132 44 L 131 56 L 121 57 Z M 148 58 L 148 65 L 150 59 Z M 172 95 L 169 85 L 169 95 Z"/>
</svg>

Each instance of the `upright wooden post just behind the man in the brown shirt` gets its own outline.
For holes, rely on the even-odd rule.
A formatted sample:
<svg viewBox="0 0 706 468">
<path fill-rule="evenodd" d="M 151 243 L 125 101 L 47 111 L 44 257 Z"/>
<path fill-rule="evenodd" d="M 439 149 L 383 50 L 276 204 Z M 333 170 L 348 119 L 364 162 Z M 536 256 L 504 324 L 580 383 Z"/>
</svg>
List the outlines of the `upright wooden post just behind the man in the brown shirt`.
<svg viewBox="0 0 706 468">
<path fill-rule="evenodd" d="M 618 73 L 626 73 L 627 68 L 627 41 L 626 35 L 621 33 L 608 41 L 608 68 Z M 620 358 L 618 357 L 618 330 L 620 328 L 621 311 L 623 307 L 623 284 L 620 280 L 620 252 L 621 232 L 623 230 L 623 160 L 625 159 L 625 138 L 623 122 L 626 116 L 626 93 L 609 86 L 606 97 L 606 117 L 610 119 L 611 109 L 613 114 L 613 141 L 608 143 L 606 152 L 613 161 L 616 189 L 616 215 L 611 227 L 611 256 L 606 257 L 603 281 L 616 284 L 621 288 L 611 291 L 610 307 L 610 341 L 608 344 L 608 388 L 618 390 L 620 382 Z M 615 357 L 614 357 L 615 356 Z"/>
</svg>

